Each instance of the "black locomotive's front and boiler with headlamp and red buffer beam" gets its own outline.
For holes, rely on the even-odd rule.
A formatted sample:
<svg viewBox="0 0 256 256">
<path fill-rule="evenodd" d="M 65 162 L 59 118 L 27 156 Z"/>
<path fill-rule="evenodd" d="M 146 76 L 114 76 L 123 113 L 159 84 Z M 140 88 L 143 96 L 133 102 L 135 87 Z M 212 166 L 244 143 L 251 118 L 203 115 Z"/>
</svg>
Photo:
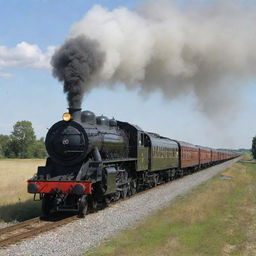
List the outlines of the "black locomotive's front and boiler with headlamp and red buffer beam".
<svg viewBox="0 0 256 256">
<path fill-rule="evenodd" d="M 129 148 L 126 134 L 114 119 L 96 118 L 81 109 L 69 109 L 49 129 L 45 146 L 46 165 L 38 167 L 28 181 L 28 192 L 40 195 L 45 215 L 52 211 L 83 213 L 89 195 L 112 192 L 107 183 L 115 180 L 114 169 L 104 169 L 103 161 L 127 157 Z"/>
</svg>

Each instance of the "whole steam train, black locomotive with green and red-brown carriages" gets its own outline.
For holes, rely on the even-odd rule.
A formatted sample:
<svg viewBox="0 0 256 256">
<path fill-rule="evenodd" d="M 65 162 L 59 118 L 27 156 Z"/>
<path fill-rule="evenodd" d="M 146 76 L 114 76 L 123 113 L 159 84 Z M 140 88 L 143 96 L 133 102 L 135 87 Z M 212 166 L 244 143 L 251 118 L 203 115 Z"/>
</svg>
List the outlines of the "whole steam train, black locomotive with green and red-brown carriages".
<svg viewBox="0 0 256 256">
<path fill-rule="evenodd" d="M 42 215 L 84 217 L 112 201 L 194 173 L 239 154 L 146 132 L 137 125 L 69 108 L 45 139 L 45 166 L 27 182 Z"/>
</svg>

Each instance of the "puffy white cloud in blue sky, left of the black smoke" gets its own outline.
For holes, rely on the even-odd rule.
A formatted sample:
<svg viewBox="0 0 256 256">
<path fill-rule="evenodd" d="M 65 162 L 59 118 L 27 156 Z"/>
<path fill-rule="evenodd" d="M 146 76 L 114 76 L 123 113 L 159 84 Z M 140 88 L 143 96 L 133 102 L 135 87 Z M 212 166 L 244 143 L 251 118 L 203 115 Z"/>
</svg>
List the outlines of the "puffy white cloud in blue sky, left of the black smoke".
<svg viewBox="0 0 256 256">
<path fill-rule="evenodd" d="M 55 46 L 48 46 L 43 52 L 38 45 L 27 42 L 18 43 L 13 48 L 0 45 L 0 77 L 11 77 L 10 73 L 1 72 L 5 68 L 50 69 L 54 51 Z"/>
</svg>

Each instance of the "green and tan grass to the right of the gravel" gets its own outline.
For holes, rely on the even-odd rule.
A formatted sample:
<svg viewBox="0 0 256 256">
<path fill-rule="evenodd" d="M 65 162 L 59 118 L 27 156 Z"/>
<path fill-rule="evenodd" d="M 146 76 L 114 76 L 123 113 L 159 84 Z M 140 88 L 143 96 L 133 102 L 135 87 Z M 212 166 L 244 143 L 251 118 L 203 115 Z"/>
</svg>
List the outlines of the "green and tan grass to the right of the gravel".
<svg viewBox="0 0 256 256">
<path fill-rule="evenodd" d="M 256 164 L 245 160 L 89 255 L 256 255 Z"/>
</svg>

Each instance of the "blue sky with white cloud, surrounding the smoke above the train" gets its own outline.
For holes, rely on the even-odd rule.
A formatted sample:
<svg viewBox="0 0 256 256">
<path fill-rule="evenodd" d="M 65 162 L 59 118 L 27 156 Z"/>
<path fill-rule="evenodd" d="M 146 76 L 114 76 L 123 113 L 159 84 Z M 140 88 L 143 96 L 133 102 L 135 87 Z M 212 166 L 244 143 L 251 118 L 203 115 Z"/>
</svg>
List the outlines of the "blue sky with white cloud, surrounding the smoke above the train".
<svg viewBox="0 0 256 256">
<path fill-rule="evenodd" d="M 29 120 L 37 137 L 45 137 L 67 109 L 62 84 L 51 72 L 56 47 L 95 4 L 112 10 L 133 9 L 140 2 L 0 0 L 0 134 L 10 134 L 17 121 Z M 186 1 L 180 4 L 186 6 Z M 199 111 L 193 92 L 167 99 L 160 90 L 143 94 L 136 88 L 103 85 L 85 95 L 82 107 L 169 138 L 216 148 L 250 148 L 256 135 L 256 84 L 247 83 L 239 91 L 240 110 L 223 123 Z"/>
</svg>

